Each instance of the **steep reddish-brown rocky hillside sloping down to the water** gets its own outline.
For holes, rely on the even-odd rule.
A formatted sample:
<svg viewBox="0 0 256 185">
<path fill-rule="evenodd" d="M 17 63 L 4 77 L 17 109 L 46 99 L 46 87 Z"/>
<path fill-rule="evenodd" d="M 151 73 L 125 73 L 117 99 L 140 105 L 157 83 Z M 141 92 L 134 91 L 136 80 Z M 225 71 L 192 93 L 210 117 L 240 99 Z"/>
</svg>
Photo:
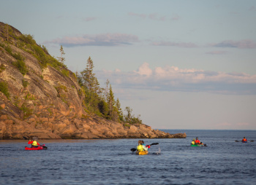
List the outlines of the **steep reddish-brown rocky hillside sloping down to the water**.
<svg viewBox="0 0 256 185">
<path fill-rule="evenodd" d="M 0 139 L 186 137 L 143 124 L 126 127 L 85 111 L 75 74 L 49 61 L 43 65 L 52 60 L 48 52 L 32 50 L 20 36 L 0 22 Z"/>
</svg>

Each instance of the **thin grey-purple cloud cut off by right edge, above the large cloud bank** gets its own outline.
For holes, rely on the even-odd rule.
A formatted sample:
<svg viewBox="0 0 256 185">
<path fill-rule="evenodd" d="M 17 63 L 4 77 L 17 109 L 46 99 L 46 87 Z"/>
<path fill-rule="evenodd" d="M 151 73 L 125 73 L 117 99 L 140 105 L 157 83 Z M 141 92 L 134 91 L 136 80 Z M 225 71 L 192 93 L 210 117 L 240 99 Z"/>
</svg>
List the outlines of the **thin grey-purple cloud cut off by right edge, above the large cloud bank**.
<svg viewBox="0 0 256 185">
<path fill-rule="evenodd" d="M 218 44 L 212 44 L 214 47 L 236 47 L 236 48 L 241 48 L 241 49 L 252 49 L 256 48 L 256 42 L 246 39 L 246 40 L 241 40 L 241 41 L 232 41 L 232 40 L 227 40 L 220 42 Z"/>
</svg>

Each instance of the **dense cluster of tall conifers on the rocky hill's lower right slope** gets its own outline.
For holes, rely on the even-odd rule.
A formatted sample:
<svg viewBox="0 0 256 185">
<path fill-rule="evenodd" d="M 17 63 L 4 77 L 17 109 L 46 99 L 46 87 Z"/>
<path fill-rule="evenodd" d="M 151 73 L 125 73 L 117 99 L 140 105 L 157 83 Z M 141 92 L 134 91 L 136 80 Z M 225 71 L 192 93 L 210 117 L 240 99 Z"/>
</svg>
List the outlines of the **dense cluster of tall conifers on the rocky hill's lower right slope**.
<svg viewBox="0 0 256 185">
<path fill-rule="evenodd" d="M 123 115 L 121 104 L 118 98 L 115 100 L 110 82 L 107 80 L 106 88 L 99 87 L 93 68 L 94 63 L 89 57 L 86 68 L 80 72 L 80 75 L 77 74 L 78 84 L 82 88 L 82 91 L 79 91 L 78 94 L 85 96 L 83 101 L 85 111 L 113 121 L 128 122 L 129 124 L 142 123 L 140 116 L 135 117 L 129 107 L 126 109 L 127 114 Z"/>
</svg>

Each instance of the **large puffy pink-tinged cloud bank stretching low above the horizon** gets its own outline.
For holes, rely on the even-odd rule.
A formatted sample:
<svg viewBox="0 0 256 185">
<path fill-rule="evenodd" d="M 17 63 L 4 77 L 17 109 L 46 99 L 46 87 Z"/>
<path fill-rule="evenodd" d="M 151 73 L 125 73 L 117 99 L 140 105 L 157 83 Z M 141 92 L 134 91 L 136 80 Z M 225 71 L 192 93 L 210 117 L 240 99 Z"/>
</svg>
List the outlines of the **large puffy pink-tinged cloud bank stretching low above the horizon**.
<svg viewBox="0 0 256 185">
<path fill-rule="evenodd" d="M 244 73 L 181 69 L 176 66 L 151 69 L 148 63 L 143 63 L 137 71 L 97 71 L 97 78 L 109 79 L 116 88 L 256 95 L 256 75 Z"/>
</svg>

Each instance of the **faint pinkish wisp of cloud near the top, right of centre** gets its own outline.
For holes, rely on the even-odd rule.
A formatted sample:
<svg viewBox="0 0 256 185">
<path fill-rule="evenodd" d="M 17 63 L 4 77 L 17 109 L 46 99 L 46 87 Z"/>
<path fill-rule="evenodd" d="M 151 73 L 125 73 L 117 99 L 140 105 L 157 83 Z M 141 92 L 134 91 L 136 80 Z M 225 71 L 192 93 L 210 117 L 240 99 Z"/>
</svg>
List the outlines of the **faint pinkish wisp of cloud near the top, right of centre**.
<svg viewBox="0 0 256 185">
<path fill-rule="evenodd" d="M 134 12 L 129 12 L 128 15 L 134 16 L 134 17 L 140 17 L 143 19 L 149 19 L 149 20 L 158 20 L 158 21 L 168 21 L 168 20 L 179 20 L 180 17 L 178 15 L 173 15 L 173 17 L 167 17 L 165 15 L 158 15 L 157 13 L 151 13 L 151 14 L 138 14 Z"/>
</svg>

